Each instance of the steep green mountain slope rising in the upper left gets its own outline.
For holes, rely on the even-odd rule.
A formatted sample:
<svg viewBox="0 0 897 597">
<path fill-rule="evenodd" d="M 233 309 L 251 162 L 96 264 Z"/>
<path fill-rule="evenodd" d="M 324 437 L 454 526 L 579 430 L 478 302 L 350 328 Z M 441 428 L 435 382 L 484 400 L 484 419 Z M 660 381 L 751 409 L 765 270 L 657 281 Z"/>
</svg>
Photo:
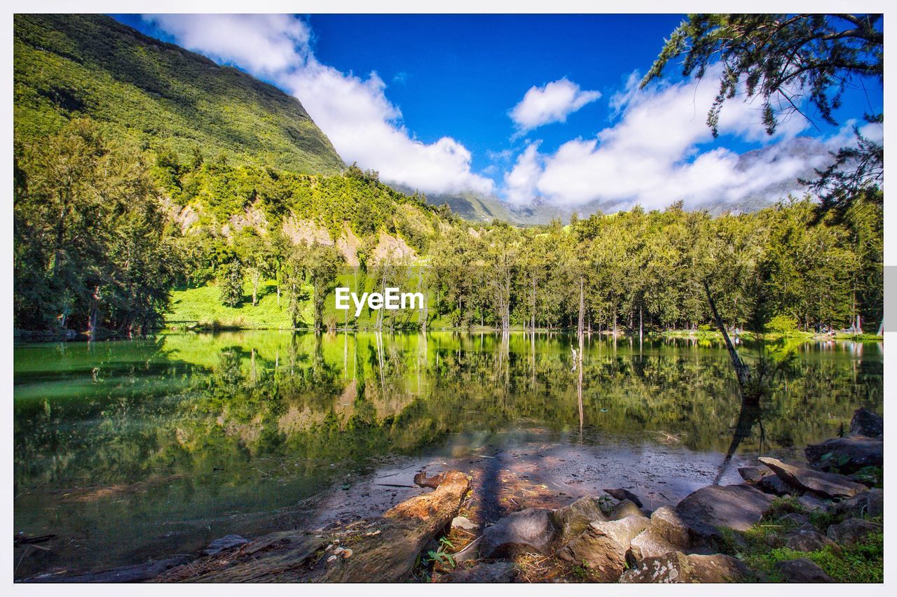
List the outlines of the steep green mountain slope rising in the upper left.
<svg viewBox="0 0 897 597">
<path fill-rule="evenodd" d="M 309 174 L 344 169 L 298 99 L 231 66 L 91 14 L 13 19 L 14 140 L 79 116 L 141 148 Z"/>
</svg>

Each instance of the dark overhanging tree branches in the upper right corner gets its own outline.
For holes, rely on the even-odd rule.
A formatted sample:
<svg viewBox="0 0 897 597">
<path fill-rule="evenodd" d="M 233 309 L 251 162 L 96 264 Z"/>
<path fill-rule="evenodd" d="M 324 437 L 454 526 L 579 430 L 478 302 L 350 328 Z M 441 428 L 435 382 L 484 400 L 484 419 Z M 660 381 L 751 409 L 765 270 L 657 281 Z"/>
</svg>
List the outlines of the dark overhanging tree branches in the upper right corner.
<svg viewBox="0 0 897 597">
<path fill-rule="evenodd" d="M 723 104 L 742 90 L 745 100 L 762 99 L 769 134 L 789 114 L 806 117 L 805 99 L 823 121 L 836 125 L 832 113 L 849 85 L 884 79 L 882 15 L 691 14 L 666 40 L 641 87 L 663 76 L 666 65 L 680 56 L 683 75 L 698 79 L 710 65 L 722 64 L 719 92 L 707 117 L 714 136 Z M 867 114 L 866 119 L 880 124 L 883 115 Z M 824 208 L 879 196 L 875 189 L 884 180 L 884 148 L 858 129 L 855 136 L 856 145 L 835 153 L 829 168 L 806 181 L 823 198 Z"/>
</svg>

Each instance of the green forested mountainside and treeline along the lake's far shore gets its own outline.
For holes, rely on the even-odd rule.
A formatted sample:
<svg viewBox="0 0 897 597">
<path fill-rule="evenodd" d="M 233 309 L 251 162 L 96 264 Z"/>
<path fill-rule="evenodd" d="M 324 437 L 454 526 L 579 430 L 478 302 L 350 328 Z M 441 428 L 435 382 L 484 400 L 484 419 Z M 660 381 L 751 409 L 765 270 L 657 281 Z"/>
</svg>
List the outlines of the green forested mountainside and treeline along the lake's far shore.
<svg viewBox="0 0 897 597">
<path fill-rule="evenodd" d="M 664 211 L 472 224 L 345 168 L 281 91 L 106 17 L 17 16 L 14 83 L 17 329 L 147 333 L 172 290 L 208 285 L 243 312 L 273 288 L 287 326 L 315 329 L 642 334 L 709 328 L 709 297 L 754 331 L 882 320 L 878 186 L 837 210 L 788 197 L 711 217 L 671 196 Z M 428 304 L 348 321 L 337 282 Z"/>
</svg>

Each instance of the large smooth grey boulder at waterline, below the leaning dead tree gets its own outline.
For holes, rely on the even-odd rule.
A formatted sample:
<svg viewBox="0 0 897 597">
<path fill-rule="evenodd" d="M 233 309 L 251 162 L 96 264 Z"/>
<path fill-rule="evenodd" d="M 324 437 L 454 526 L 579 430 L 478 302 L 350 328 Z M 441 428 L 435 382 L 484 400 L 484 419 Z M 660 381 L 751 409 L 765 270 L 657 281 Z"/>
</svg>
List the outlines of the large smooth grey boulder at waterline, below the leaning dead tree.
<svg viewBox="0 0 897 597">
<path fill-rule="evenodd" d="M 716 536 L 715 527 L 746 531 L 771 503 L 772 497 L 747 485 L 710 485 L 685 497 L 675 510 L 692 530 Z"/>
</svg>

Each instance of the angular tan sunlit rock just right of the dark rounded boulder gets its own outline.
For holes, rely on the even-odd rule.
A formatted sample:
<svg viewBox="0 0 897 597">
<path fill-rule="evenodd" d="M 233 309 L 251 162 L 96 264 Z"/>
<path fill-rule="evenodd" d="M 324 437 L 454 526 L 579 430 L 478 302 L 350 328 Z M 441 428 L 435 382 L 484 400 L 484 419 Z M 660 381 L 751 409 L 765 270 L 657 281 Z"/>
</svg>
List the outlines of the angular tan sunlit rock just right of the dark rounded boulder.
<svg viewBox="0 0 897 597">
<path fill-rule="evenodd" d="M 596 522 L 558 551 L 558 557 L 592 570 L 600 582 L 615 581 L 626 568 L 630 543 L 649 520 L 644 516 L 626 516 L 621 520 Z"/>
</svg>

